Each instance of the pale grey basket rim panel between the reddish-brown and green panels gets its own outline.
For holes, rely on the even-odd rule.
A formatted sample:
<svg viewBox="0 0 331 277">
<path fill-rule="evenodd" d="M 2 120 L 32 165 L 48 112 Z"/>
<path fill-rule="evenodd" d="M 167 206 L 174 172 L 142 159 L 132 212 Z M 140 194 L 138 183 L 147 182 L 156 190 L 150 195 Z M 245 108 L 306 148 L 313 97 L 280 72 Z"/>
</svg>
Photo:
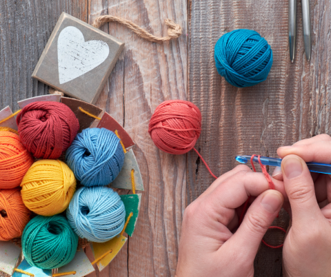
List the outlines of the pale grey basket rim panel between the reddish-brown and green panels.
<svg viewBox="0 0 331 277">
<path fill-rule="evenodd" d="M 136 190 L 143 190 L 143 178 L 141 177 L 139 165 L 132 149 L 124 155 L 122 170 L 110 184 L 110 187 L 117 187 L 118 189 L 132 189 L 131 170 L 134 170 L 134 187 Z"/>
</svg>

